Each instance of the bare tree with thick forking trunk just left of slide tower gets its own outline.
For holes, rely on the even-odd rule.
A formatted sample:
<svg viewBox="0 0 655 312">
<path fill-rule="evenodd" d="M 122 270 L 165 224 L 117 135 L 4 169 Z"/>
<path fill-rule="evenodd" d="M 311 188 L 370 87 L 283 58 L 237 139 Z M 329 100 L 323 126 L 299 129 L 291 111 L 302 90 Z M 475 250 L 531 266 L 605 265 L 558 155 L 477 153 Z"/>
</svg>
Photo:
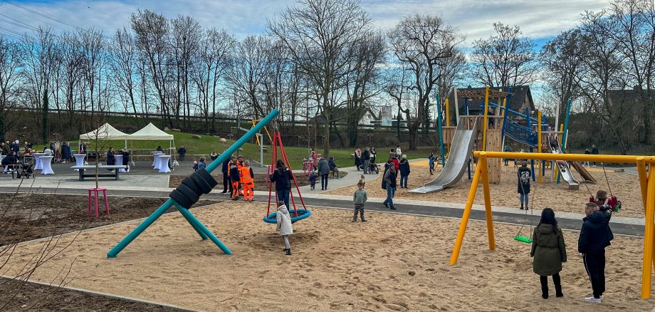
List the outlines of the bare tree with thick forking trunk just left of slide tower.
<svg viewBox="0 0 655 312">
<path fill-rule="evenodd" d="M 453 56 L 462 38 L 441 17 L 416 14 L 404 17 L 389 33 L 389 40 L 394 55 L 412 73 L 409 88 L 417 96 L 416 110 L 414 115 L 409 108 L 401 110 L 407 118 L 409 150 L 416 150 L 429 98 L 444 75 L 440 62 Z"/>
</svg>

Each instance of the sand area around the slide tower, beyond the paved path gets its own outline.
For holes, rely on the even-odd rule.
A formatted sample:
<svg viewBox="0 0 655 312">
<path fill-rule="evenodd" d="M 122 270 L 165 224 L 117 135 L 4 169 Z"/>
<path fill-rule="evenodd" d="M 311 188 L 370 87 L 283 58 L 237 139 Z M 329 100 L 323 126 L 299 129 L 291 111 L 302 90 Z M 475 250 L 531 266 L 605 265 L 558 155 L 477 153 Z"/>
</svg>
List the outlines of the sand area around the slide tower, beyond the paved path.
<svg viewBox="0 0 655 312">
<path fill-rule="evenodd" d="M 510 162 L 511 164 L 511 162 Z M 440 168 L 437 168 L 434 175 L 429 175 L 429 169 L 425 166 L 414 165 L 411 167 L 412 172 L 409 174 L 409 182 L 407 187 L 415 189 L 422 187 L 425 183 L 434 180 L 439 175 Z M 471 175 L 473 175 L 475 166 L 471 166 Z M 598 189 L 608 190 L 605 176 L 600 167 L 589 168 L 589 173 L 594 176 L 598 181 L 597 184 L 589 183 L 589 189 L 595 195 Z M 548 172 L 546 172 L 548 174 Z M 575 172 L 574 176 L 577 180 L 579 175 Z M 623 209 L 618 214 L 619 217 L 644 217 L 644 205 L 641 202 L 641 191 L 639 188 L 639 177 L 625 172 L 607 172 L 607 180 L 609 180 L 612 187 L 612 194 L 619 197 L 622 201 Z M 380 188 L 382 175 L 375 180 L 367 181 L 366 189 L 369 197 L 387 197 L 387 191 Z M 589 191 L 584 183 L 580 184 L 580 189 L 570 190 L 566 182 L 556 184 L 551 182 L 550 177 L 546 176 L 543 180 L 545 183 L 538 184 L 532 182 L 530 187 L 530 207 L 539 209 L 545 207 L 555 209 L 555 212 L 584 212 L 584 203 L 589 200 Z M 400 182 L 400 177 L 398 177 Z M 357 189 L 356 186 L 342 187 L 340 189 L 332 189 L 327 194 L 352 194 Z M 402 199 L 415 199 L 424 200 L 429 202 L 456 202 L 466 203 L 468 191 L 471 189 L 471 182 L 468 180 L 466 173 L 464 174 L 461 182 L 444 189 L 441 192 L 434 192 L 429 194 L 416 194 L 408 192 L 409 189 L 398 188 L 396 190 L 396 197 Z M 499 207 L 516 207 L 520 212 L 520 201 L 517 193 L 517 177 L 516 168 L 513 166 L 503 166 L 501 172 L 501 182 L 491 184 L 491 205 Z M 476 199 L 474 204 L 484 204 L 482 196 L 482 181 L 478 185 L 476 192 Z"/>
</svg>

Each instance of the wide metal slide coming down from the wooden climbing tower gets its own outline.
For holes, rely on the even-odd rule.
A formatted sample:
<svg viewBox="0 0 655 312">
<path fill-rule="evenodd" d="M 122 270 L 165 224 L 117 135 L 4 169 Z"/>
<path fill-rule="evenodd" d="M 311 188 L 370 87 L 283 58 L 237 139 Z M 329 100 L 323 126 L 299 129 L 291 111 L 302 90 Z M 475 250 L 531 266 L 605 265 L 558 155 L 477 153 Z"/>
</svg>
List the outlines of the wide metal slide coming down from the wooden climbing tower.
<svg viewBox="0 0 655 312">
<path fill-rule="evenodd" d="M 446 187 L 451 187 L 461 180 L 462 175 L 466 171 L 468 159 L 471 157 L 473 148 L 475 148 L 476 136 L 480 125 L 479 118 L 476 118 L 476 121 L 471 126 L 471 130 L 468 130 L 466 119 L 464 117 L 459 118 L 444 170 L 441 170 L 436 179 L 426 183 L 424 187 L 412 189 L 409 192 L 420 194 L 437 192 Z"/>
</svg>

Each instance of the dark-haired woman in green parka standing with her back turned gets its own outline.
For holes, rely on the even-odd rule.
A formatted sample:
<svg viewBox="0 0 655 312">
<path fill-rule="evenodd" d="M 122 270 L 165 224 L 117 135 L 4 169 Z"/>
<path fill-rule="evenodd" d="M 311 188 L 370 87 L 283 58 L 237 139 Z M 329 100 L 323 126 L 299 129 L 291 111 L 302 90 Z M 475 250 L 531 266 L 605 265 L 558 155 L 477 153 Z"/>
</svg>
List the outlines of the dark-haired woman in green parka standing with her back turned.
<svg viewBox="0 0 655 312">
<path fill-rule="evenodd" d="M 533 246 L 530 256 L 535 257 L 533 271 L 541 281 L 541 297 L 548 298 L 548 276 L 552 276 L 555 284 L 555 296 L 563 297 L 560 271 L 562 263 L 566 262 L 566 246 L 562 229 L 557 227 L 555 212 L 550 208 L 543 209 L 539 225 L 533 233 Z"/>
</svg>

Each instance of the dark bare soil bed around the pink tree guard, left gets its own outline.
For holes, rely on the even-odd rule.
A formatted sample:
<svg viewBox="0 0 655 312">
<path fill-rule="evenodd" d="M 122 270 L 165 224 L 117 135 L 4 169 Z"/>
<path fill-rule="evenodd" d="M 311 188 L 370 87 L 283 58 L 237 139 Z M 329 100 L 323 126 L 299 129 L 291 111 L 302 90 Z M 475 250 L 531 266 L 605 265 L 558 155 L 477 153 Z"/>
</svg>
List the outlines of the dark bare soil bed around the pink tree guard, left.
<svg viewBox="0 0 655 312">
<path fill-rule="evenodd" d="M 110 215 L 105 215 L 103 209 L 95 218 L 88 215 L 86 196 L 0 194 L 0 246 L 144 218 L 165 201 L 150 197 L 109 197 Z M 194 207 L 212 203 L 216 201 L 201 199 Z"/>
</svg>

